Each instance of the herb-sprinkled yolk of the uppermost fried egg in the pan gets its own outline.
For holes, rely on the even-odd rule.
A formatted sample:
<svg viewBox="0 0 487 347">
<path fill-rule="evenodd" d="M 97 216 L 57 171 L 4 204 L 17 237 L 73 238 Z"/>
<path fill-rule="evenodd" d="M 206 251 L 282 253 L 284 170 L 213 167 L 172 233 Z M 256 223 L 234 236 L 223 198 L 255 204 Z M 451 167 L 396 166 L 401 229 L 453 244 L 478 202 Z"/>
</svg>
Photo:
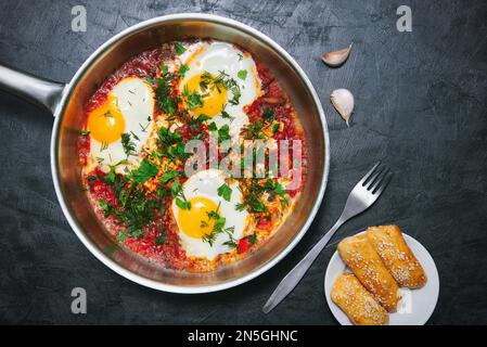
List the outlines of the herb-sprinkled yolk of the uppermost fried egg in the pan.
<svg viewBox="0 0 487 347">
<path fill-rule="evenodd" d="M 205 75 L 208 76 L 208 73 Z M 187 106 L 190 108 L 191 114 L 195 117 L 205 115 L 213 118 L 223 111 L 223 106 L 228 99 L 227 89 L 222 87 L 216 88 L 213 86 L 212 81 L 215 80 L 215 76 L 210 75 L 209 78 L 202 78 L 202 76 L 203 74 L 198 74 L 191 77 L 187 81 L 184 90 L 188 90 L 190 93 L 200 94 L 203 106 L 191 110 L 191 102 L 188 100 Z M 204 86 L 206 86 L 206 88 Z"/>
</svg>

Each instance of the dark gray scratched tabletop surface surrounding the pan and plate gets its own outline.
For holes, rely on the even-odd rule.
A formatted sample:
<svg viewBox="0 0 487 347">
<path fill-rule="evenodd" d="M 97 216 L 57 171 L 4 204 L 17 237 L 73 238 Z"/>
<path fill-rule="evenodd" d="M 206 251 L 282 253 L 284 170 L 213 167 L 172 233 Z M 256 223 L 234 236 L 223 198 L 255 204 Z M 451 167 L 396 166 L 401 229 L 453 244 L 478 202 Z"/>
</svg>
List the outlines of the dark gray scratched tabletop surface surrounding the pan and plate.
<svg viewBox="0 0 487 347">
<path fill-rule="evenodd" d="M 85 4 L 87 33 L 71 30 Z M 396 30 L 396 9 L 413 31 Z M 0 93 L 0 322 L 336 324 L 323 296 L 329 247 L 274 311 L 260 308 L 280 279 L 332 226 L 355 182 L 377 159 L 395 171 L 383 197 L 334 241 L 398 223 L 432 254 L 440 277 L 430 323 L 487 323 L 487 2 L 485 1 L 2 1 L 0 60 L 68 81 L 101 43 L 142 20 L 178 12 L 228 16 L 286 49 L 322 101 L 331 138 L 323 204 L 299 245 L 265 275 L 222 293 L 184 296 L 133 284 L 99 262 L 63 217 L 49 166 L 52 117 Z M 354 41 L 331 69 L 322 52 Z M 356 97 L 351 127 L 329 103 Z M 88 314 L 71 291 L 88 292 Z"/>
</svg>

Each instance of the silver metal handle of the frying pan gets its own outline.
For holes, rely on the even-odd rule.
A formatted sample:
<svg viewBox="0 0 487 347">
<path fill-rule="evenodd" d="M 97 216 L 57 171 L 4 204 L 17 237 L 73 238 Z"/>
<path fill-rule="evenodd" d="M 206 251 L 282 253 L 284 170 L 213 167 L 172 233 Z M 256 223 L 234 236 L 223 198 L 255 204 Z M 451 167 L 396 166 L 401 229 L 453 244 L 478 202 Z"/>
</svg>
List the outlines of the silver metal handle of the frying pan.
<svg viewBox="0 0 487 347">
<path fill-rule="evenodd" d="M 0 89 L 16 94 L 55 115 L 66 85 L 41 79 L 0 64 Z"/>
</svg>

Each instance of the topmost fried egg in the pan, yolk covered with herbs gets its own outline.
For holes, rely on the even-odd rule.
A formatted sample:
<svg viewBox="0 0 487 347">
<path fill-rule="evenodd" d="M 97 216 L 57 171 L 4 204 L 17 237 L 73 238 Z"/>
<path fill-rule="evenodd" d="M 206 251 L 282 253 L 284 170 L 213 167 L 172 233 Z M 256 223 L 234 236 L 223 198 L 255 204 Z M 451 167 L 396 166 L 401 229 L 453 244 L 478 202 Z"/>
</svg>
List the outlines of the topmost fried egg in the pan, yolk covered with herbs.
<svg viewBox="0 0 487 347">
<path fill-rule="evenodd" d="M 201 115 L 212 118 L 218 128 L 228 125 L 229 134 L 238 137 L 243 126 L 248 124 L 248 117 L 243 111 L 245 105 L 252 104 L 262 92 L 257 67 L 252 55 L 242 52 L 227 42 L 198 42 L 181 55 L 181 66 L 187 72 L 180 81 L 181 92 L 197 92 L 203 95 L 203 106 L 190 110 L 193 117 Z M 235 104 L 235 93 L 231 88 L 204 88 L 208 77 L 225 77 L 233 80 L 240 88 L 239 103 Z M 203 82 L 203 83 L 202 83 Z M 223 116 L 223 111 L 226 115 Z"/>
</svg>

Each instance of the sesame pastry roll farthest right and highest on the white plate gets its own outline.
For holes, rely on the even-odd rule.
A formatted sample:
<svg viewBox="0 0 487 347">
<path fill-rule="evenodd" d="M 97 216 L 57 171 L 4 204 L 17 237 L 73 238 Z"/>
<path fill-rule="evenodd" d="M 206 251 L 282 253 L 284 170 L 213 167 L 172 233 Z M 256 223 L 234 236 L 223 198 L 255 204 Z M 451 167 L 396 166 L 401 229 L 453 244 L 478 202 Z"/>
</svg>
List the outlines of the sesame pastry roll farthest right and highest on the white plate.
<svg viewBox="0 0 487 347">
<path fill-rule="evenodd" d="M 423 267 L 408 247 L 399 227 L 370 227 L 366 234 L 400 286 L 419 288 L 426 283 Z"/>
</svg>

